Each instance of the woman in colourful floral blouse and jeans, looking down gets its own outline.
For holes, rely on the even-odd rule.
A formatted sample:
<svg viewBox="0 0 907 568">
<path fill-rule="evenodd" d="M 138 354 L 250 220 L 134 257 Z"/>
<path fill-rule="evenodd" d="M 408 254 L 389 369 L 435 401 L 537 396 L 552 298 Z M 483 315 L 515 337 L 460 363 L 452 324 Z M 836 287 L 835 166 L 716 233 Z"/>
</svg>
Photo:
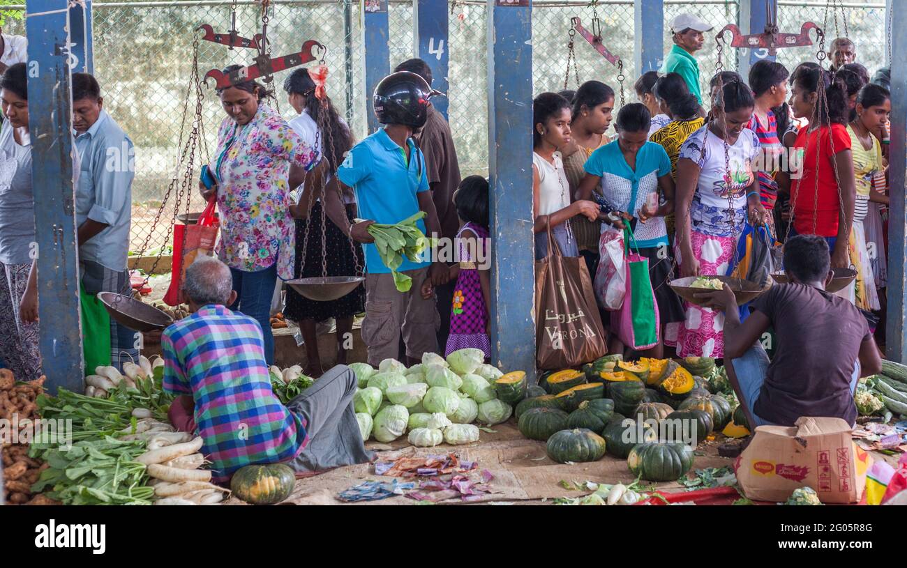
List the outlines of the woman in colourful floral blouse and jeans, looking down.
<svg viewBox="0 0 907 568">
<path fill-rule="evenodd" d="M 209 165 L 217 184 L 210 190 L 200 186 L 201 195 L 217 196 L 219 257 L 229 266 L 238 296 L 229 307 L 258 320 L 265 358 L 272 364 L 271 296 L 278 276 L 293 277 L 295 262 L 295 204 L 289 192 L 319 157 L 277 111 L 262 103 L 271 93 L 258 82 L 241 82 L 218 89 L 218 94 L 228 117 L 220 124 Z"/>
</svg>

